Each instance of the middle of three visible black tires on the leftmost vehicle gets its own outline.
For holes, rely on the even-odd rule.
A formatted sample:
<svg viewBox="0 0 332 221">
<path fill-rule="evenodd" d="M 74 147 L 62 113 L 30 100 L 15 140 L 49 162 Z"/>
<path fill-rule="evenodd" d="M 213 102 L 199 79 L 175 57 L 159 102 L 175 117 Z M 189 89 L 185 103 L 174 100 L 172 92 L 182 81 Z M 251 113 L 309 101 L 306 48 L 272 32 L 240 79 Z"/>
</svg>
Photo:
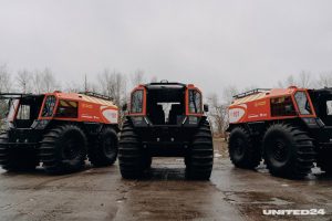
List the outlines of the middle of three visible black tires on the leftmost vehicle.
<svg viewBox="0 0 332 221">
<path fill-rule="evenodd" d="M 41 141 L 40 158 L 49 173 L 81 170 L 86 159 L 86 137 L 75 125 L 59 125 L 46 133 Z"/>
</svg>

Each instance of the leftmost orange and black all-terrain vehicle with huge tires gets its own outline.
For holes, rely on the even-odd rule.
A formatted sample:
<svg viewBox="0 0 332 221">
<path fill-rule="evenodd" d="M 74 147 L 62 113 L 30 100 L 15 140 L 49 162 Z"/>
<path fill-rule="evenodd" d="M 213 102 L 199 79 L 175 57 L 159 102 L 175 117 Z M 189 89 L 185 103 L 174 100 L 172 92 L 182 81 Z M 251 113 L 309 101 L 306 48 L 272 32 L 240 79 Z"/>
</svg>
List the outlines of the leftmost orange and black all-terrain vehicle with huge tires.
<svg viewBox="0 0 332 221">
<path fill-rule="evenodd" d="M 94 93 L 1 94 L 8 104 L 7 129 L 0 135 L 0 165 L 6 170 L 46 172 L 113 165 L 117 157 L 118 109 Z"/>
</svg>

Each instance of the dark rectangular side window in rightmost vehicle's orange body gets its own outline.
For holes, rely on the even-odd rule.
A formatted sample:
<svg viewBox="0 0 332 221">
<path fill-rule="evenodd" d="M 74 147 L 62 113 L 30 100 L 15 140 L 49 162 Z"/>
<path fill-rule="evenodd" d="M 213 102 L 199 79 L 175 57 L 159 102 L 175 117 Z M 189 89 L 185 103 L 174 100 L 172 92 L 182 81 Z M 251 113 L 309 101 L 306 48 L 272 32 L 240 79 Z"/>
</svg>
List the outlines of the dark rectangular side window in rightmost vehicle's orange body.
<svg viewBox="0 0 332 221">
<path fill-rule="evenodd" d="M 271 98 L 271 116 L 293 116 L 295 108 L 290 96 Z"/>
</svg>

